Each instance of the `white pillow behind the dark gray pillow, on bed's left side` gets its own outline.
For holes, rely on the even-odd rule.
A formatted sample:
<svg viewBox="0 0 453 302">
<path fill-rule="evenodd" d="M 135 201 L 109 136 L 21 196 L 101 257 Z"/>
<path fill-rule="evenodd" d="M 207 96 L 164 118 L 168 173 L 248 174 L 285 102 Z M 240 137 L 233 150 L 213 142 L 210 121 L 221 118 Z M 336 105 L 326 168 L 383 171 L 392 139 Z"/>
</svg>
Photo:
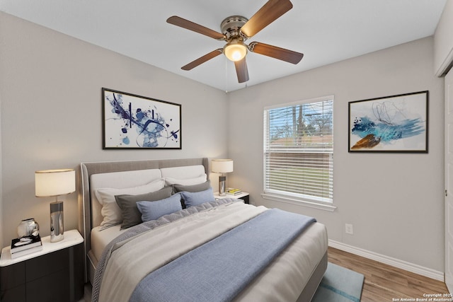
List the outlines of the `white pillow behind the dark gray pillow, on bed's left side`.
<svg viewBox="0 0 453 302">
<path fill-rule="evenodd" d="M 102 204 L 101 215 L 103 216 L 103 221 L 101 222 L 101 226 L 109 226 L 122 221 L 121 209 L 116 204 L 115 195 L 137 195 L 155 192 L 161 190 L 164 185 L 165 181 L 161 178 L 137 187 L 126 187 L 124 189 L 105 187 L 96 190 L 96 197 L 99 203 Z"/>
</svg>

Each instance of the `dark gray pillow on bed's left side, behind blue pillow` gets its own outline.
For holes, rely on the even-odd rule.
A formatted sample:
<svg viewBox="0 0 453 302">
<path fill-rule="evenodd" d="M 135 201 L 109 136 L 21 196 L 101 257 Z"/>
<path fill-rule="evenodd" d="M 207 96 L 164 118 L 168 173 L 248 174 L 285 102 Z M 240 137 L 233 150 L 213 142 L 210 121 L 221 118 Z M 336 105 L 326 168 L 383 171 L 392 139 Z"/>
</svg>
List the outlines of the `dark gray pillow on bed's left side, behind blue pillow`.
<svg viewBox="0 0 453 302">
<path fill-rule="evenodd" d="M 164 187 L 163 189 L 155 192 L 149 192 L 139 195 L 115 195 L 115 200 L 121 209 L 122 223 L 121 229 L 130 228 L 142 223 L 142 213 L 137 208 L 137 202 L 155 202 L 164 198 L 171 197 L 172 187 Z"/>
</svg>

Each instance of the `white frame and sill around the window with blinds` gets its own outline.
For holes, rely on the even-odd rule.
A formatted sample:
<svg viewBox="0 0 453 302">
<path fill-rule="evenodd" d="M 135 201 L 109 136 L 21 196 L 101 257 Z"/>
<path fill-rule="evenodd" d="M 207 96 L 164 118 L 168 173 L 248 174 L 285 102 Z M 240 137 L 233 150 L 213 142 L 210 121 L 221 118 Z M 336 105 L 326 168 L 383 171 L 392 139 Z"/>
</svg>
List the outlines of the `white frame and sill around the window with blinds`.
<svg viewBox="0 0 453 302">
<path fill-rule="evenodd" d="M 261 194 L 261 197 L 263 199 L 270 199 L 273 201 L 277 202 L 285 202 L 289 204 L 297 204 L 297 205 L 302 205 L 305 207 L 311 207 L 315 209 L 323 209 L 326 211 L 335 211 L 336 206 L 333 204 L 333 195 L 331 201 L 326 201 L 325 198 L 323 197 L 315 197 L 315 196 L 309 196 L 309 195 L 304 195 L 304 194 L 298 194 L 298 193 L 292 193 L 292 192 L 284 192 L 280 190 L 273 190 L 270 188 L 266 187 L 266 179 L 267 179 L 267 155 L 268 149 L 267 143 L 269 141 L 270 133 L 267 127 L 269 127 L 269 110 L 277 109 L 277 108 L 288 108 L 292 107 L 294 105 L 304 105 L 304 104 L 309 104 L 309 103 L 320 103 L 323 101 L 332 101 L 332 135 L 333 135 L 333 103 L 335 100 L 334 95 L 325 95 L 321 96 L 319 98 L 309 98 L 309 99 L 304 99 L 304 100 L 297 100 L 292 103 L 282 103 L 282 104 L 277 104 L 277 105 L 272 105 L 272 106 L 267 106 L 263 109 L 263 193 Z M 333 139 L 332 139 L 333 143 Z M 302 152 L 302 153 L 307 153 L 307 152 Z M 331 151 L 331 156 L 333 158 L 333 146 L 332 146 L 332 151 Z M 333 173 L 333 163 L 332 163 L 332 173 Z M 333 187 L 333 176 L 331 178 L 331 183 L 329 184 Z M 333 189 L 332 189 L 333 190 Z"/>
</svg>

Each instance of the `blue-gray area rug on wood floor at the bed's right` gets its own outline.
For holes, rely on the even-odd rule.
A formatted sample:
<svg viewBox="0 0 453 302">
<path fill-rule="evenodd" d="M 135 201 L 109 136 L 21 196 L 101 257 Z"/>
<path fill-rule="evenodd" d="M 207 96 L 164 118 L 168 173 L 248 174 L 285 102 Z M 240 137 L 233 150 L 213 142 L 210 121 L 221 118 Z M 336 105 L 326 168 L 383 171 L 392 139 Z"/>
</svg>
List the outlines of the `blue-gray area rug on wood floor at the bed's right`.
<svg viewBox="0 0 453 302">
<path fill-rule="evenodd" d="M 311 302 L 360 302 L 365 277 L 329 262 Z"/>
</svg>

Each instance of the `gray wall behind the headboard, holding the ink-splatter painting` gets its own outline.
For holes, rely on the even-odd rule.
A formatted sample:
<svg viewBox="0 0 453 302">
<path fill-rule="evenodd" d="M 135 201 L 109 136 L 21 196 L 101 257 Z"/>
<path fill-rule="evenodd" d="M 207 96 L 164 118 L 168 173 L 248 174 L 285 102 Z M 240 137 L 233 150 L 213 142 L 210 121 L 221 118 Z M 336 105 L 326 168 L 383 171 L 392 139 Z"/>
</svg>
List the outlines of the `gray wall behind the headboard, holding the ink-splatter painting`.
<svg viewBox="0 0 453 302">
<path fill-rule="evenodd" d="M 1 246 L 29 217 L 50 234 L 53 199 L 35 197 L 35 170 L 226 156 L 224 92 L 1 12 L 0 39 Z M 102 87 L 180 103 L 183 149 L 102 150 Z M 65 228 L 77 228 L 76 193 L 62 199 Z"/>
</svg>

